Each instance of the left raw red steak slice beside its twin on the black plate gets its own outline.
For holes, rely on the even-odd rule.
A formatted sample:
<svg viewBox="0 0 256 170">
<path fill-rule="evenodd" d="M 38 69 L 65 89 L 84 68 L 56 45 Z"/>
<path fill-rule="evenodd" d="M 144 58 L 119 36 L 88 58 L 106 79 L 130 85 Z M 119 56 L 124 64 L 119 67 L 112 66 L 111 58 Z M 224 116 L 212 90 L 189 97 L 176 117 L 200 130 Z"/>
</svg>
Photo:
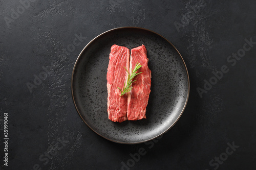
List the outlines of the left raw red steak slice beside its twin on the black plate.
<svg viewBox="0 0 256 170">
<path fill-rule="evenodd" d="M 108 88 L 108 114 L 113 122 L 127 120 L 127 94 L 120 96 L 120 90 L 127 80 L 128 74 L 124 67 L 129 69 L 130 51 L 124 46 L 112 45 L 106 80 Z"/>
</svg>

